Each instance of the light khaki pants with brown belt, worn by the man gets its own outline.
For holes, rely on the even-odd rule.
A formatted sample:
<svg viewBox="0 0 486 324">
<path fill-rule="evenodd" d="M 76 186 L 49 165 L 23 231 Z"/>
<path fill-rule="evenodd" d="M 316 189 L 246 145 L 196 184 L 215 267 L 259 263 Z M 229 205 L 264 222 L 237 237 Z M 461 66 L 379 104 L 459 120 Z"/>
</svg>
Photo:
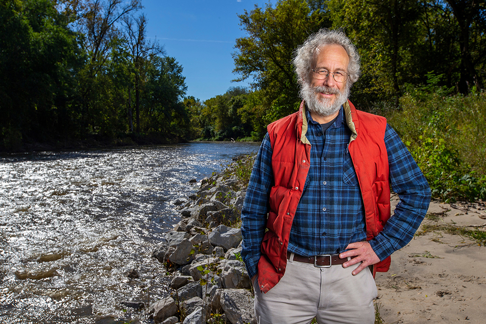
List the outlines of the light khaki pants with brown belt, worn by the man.
<svg viewBox="0 0 486 324">
<path fill-rule="evenodd" d="M 291 256 L 291 259 L 293 255 Z M 255 313 L 259 324 L 373 324 L 373 275 L 366 267 L 353 276 L 358 264 L 343 268 L 316 268 L 312 264 L 288 261 L 284 276 L 267 293 L 255 280 Z"/>
</svg>

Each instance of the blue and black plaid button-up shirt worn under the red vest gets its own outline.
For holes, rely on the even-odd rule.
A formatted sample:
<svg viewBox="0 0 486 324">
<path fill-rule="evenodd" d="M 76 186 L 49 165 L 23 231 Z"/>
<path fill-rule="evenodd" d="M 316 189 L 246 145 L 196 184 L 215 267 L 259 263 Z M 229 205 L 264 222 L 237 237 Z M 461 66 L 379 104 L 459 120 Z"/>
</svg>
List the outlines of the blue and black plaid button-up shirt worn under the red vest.
<svg viewBox="0 0 486 324">
<path fill-rule="evenodd" d="M 358 178 L 347 151 L 351 131 L 341 108 L 323 134 L 306 112 L 311 166 L 292 224 L 288 251 L 302 256 L 344 252 L 351 242 L 366 240 L 364 205 Z M 390 184 L 400 203 L 383 231 L 370 241 L 385 259 L 405 246 L 417 231 L 429 202 L 430 188 L 397 133 L 387 125 L 385 144 Z M 242 257 L 251 277 L 257 274 L 260 244 L 266 228 L 269 192 L 274 185 L 272 147 L 264 137 L 253 166 L 242 210 Z"/>
</svg>

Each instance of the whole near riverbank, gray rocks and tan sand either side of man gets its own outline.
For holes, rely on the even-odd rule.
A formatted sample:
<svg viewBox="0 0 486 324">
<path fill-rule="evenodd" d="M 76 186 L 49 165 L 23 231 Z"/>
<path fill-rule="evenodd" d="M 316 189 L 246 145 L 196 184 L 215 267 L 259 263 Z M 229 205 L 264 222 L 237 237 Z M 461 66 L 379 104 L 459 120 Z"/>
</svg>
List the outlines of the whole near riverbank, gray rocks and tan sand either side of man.
<svg viewBox="0 0 486 324">
<path fill-rule="evenodd" d="M 155 323 L 203 323 L 204 316 L 208 323 L 255 323 L 239 257 L 244 193 L 230 168 L 174 202 L 182 204 L 182 220 L 153 254 L 172 272 L 174 292 L 151 305 Z M 397 203 L 395 195 L 392 208 Z M 483 323 L 485 220 L 484 202 L 432 202 L 414 239 L 392 255 L 390 271 L 377 273 L 376 323 Z"/>
</svg>

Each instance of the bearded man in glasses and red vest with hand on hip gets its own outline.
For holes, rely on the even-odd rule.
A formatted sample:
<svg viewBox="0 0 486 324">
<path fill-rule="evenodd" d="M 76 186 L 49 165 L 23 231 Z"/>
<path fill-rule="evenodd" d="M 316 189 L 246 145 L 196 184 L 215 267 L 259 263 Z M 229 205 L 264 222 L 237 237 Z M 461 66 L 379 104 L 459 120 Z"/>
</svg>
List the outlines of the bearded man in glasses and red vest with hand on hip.
<svg viewBox="0 0 486 324">
<path fill-rule="evenodd" d="M 347 100 L 360 64 L 344 32 L 312 35 L 294 65 L 303 101 L 268 126 L 242 210 L 257 319 L 371 324 L 374 273 L 412 239 L 430 188 L 386 119 Z"/>
</svg>

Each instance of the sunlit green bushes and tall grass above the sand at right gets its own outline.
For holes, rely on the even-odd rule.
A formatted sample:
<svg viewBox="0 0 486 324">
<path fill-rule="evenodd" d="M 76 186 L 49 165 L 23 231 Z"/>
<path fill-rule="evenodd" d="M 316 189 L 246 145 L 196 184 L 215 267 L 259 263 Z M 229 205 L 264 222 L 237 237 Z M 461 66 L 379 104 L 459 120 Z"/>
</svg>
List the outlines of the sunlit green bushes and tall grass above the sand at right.
<svg viewBox="0 0 486 324">
<path fill-rule="evenodd" d="M 483 131 L 484 94 L 440 97 L 441 90 L 424 89 L 400 100 L 401 111 L 388 121 L 427 178 L 433 197 L 446 202 L 486 199 L 486 143 Z M 471 153 L 474 152 L 474 153 Z"/>
</svg>

